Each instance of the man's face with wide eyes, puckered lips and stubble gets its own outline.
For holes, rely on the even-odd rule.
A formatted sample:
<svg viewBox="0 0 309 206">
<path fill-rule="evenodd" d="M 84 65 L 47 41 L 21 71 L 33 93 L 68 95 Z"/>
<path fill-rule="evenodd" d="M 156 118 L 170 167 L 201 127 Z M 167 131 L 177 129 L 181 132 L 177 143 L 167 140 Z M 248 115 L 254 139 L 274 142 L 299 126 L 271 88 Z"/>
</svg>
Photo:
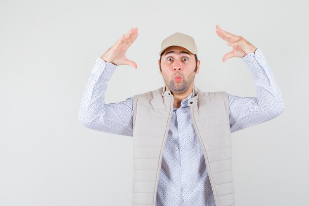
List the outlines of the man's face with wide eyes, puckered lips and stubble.
<svg viewBox="0 0 309 206">
<path fill-rule="evenodd" d="M 158 61 L 160 64 L 160 61 Z M 195 74 L 199 72 L 200 60 L 195 70 L 194 55 L 181 46 L 170 46 L 164 50 L 161 58 L 161 70 L 166 90 L 183 94 L 193 88 Z"/>
</svg>

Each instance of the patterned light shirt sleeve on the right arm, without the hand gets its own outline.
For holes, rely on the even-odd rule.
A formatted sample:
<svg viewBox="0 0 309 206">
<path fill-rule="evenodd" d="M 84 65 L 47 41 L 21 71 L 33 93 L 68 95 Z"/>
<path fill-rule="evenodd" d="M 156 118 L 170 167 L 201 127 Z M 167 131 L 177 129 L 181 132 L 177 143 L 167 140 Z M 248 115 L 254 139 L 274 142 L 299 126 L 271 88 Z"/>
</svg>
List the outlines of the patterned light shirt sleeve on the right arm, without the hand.
<svg viewBox="0 0 309 206">
<path fill-rule="evenodd" d="M 229 94 L 231 132 L 269 121 L 284 111 L 282 93 L 262 51 L 258 48 L 242 59 L 252 72 L 257 97 Z"/>
</svg>

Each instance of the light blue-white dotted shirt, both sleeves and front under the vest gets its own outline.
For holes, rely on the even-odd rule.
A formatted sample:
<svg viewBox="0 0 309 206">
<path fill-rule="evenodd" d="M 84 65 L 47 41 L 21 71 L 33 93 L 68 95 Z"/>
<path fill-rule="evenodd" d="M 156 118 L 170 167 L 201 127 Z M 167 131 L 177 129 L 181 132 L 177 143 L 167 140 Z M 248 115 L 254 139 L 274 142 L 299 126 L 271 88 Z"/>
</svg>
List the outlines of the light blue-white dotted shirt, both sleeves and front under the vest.
<svg viewBox="0 0 309 206">
<path fill-rule="evenodd" d="M 257 97 L 229 94 L 231 131 L 271 120 L 284 111 L 281 91 L 260 49 L 242 57 L 252 72 Z M 116 65 L 97 58 L 80 102 L 78 120 L 84 126 L 107 133 L 133 136 L 133 97 L 105 104 L 107 82 Z M 189 95 L 173 108 L 163 150 L 156 206 L 215 206 L 204 154 L 193 128 Z"/>
</svg>

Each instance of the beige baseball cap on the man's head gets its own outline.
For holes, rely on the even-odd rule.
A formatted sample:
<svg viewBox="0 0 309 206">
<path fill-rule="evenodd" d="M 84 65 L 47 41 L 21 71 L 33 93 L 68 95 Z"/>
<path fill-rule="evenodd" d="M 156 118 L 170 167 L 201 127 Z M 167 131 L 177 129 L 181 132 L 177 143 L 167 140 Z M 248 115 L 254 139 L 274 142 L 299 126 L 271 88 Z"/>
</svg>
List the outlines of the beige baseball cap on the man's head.
<svg viewBox="0 0 309 206">
<path fill-rule="evenodd" d="M 159 52 L 159 55 L 169 46 L 181 46 L 186 49 L 188 49 L 191 53 L 196 54 L 197 56 L 197 47 L 195 44 L 195 41 L 193 37 L 176 32 L 172 34 L 171 36 L 164 39 L 161 43 L 161 50 Z"/>
</svg>

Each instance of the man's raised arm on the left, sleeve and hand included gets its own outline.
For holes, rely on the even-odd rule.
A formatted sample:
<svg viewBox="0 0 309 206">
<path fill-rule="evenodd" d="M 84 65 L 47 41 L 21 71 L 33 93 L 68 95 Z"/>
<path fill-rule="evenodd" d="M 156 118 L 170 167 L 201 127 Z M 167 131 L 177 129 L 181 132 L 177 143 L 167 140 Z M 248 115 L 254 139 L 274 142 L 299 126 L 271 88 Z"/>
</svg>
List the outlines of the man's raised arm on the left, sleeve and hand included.
<svg viewBox="0 0 309 206">
<path fill-rule="evenodd" d="M 134 61 L 125 57 L 128 47 L 137 36 L 137 28 L 131 28 L 96 60 L 86 83 L 78 113 L 78 120 L 84 126 L 107 133 L 133 135 L 133 97 L 122 102 L 105 104 L 104 95 L 107 82 L 111 79 L 116 65 L 137 68 Z"/>
</svg>

